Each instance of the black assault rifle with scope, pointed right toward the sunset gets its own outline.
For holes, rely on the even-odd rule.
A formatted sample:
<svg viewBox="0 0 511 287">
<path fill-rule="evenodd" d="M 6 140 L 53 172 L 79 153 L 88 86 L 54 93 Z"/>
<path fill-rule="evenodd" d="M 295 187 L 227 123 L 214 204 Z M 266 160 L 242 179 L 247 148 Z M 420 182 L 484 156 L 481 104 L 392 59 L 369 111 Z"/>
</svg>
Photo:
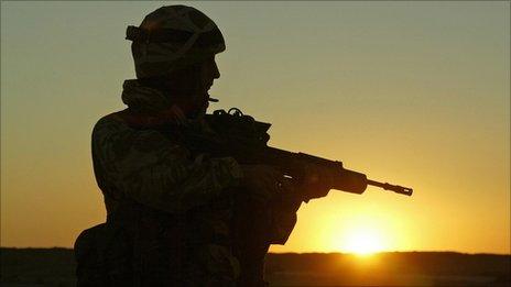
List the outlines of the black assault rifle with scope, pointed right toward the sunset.
<svg viewBox="0 0 511 287">
<path fill-rule="evenodd" d="M 304 165 L 323 165 L 337 174 L 330 189 L 352 194 L 362 194 L 368 185 L 405 196 L 411 196 L 413 192 L 412 188 L 368 179 L 365 174 L 344 168 L 341 162 L 268 146 L 270 140 L 268 130 L 271 124 L 256 121 L 237 108 L 231 108 L 227 112 L 216 110 L 205 117 L 215 133 L 208 135 L 204 132 L 195 132 L 194 129 L 185 129 L 184 137 L 187 147 L 192 151 L 207 152 L 215 156 L 232 156 L 241 164 L 275 166 L 285 176 L 298 179 Z"/>
</svg>

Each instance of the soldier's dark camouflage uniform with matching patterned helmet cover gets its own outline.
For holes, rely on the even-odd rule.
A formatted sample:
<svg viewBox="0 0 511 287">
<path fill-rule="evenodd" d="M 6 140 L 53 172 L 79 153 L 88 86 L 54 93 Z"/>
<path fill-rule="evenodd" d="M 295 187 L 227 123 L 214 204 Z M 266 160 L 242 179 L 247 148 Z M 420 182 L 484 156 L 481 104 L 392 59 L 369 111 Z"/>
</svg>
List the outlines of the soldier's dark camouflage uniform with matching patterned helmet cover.
<svg viewBox="0 0 511 287">
<path fill-rule="evenodd" d="M 161 20 L 165 13 L 196 11 L 189 9 L 153 13 Z M 141 26 L 153 22 L 154 15 L 148 16 Z M 205 33 L 216 27 L 199 26 Z M 138 77 L 192 60 L 157 62 L 168 55 L 148 53 L 165 53 L 150 42 L 133 43 L 132 49 L 143 54 L 135 58 Z M 148 64 L 154 60 L 159 68 Z M 253 200 L 240 186 L 243 174 L 233 158 L 192 153 L 175 125 L 139 124 L 171 106 L 163 91 L 127 80 L 122 100 L 129 109 L 104 117 L 93 131 L 94 170 L 107 222 L 84 231 L 75 243 L 78 285 L 263 286 L 264 255 L 271 243 L 287 240 L 300 201 Z"/>
</svg>

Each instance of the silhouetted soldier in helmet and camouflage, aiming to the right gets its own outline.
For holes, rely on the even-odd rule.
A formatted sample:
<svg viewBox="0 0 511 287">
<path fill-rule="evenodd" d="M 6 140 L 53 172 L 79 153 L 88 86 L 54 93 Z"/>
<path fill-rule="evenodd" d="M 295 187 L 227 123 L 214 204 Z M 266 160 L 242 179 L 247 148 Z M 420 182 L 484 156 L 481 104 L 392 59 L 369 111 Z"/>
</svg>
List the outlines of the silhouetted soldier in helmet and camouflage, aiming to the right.
<svg viewBox="0 0 511 287">
<path fill-rule="evenodd" d="M 127 40 L 137 79 L 123 84 L 128 108 L 93 131 L 107 220 L 75 243 L 78 286 L 267 286 L 270 244 L 284 244 L 302 200 L 328 188 L 287 196 L 297 187 L 271 166 L 183 144 L 187 124 L 213 132 L 203 117 L 220 77 L 215 55 L 226 45 L 204 13 L 162 7 L 129 26 Z"/>
</svg>

